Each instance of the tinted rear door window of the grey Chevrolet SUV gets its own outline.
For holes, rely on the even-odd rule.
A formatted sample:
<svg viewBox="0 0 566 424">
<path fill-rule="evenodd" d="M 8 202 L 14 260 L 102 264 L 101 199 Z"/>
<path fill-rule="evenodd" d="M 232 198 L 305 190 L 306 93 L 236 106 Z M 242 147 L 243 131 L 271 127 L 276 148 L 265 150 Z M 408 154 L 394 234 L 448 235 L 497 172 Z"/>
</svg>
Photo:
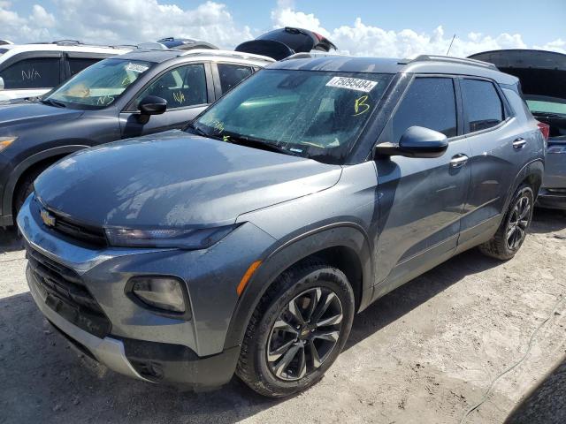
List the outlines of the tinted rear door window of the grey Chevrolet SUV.
<svg viewBox="0 0 566 424">
<path fill-rule="evenodd" d="M 468 128 L 466 133 L 486 130 L 504 119 L 503 103 L 497 90 L 489 81 L 462 79 L 463 110 Z"/>
</svg>

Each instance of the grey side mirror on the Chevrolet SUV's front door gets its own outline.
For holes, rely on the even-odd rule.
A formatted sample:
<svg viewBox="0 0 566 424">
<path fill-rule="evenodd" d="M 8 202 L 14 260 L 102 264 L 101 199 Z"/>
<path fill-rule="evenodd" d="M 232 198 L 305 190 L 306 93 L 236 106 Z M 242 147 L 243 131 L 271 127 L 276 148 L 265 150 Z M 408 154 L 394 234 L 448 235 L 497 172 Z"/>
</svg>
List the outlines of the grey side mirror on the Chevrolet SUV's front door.
<svg viewBox="0 0 566 424">
<path fill-rule="evenodd" d="M 381 143 L 374 156 L 440 157 L 448 148 L 446 135 L 423 126 L 409 126 L 399 144 Z"/>
</svg>

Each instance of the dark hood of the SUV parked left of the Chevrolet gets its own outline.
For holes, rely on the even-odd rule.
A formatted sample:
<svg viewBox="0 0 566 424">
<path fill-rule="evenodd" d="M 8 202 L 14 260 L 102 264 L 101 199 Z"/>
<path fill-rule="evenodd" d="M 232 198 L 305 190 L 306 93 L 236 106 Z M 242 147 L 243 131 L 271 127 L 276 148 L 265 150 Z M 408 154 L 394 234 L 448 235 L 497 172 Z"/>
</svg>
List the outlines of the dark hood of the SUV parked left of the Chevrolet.
<svg viewBox="0 0 566 424">
<path fill-rule="evenodd" d="M 41 102 L 12 101 L 0 102 L 0 128 L 11 125 L 37 125 L 54 119 L 73 119 L 82 110 L 57 108 Z"/>
</svg>

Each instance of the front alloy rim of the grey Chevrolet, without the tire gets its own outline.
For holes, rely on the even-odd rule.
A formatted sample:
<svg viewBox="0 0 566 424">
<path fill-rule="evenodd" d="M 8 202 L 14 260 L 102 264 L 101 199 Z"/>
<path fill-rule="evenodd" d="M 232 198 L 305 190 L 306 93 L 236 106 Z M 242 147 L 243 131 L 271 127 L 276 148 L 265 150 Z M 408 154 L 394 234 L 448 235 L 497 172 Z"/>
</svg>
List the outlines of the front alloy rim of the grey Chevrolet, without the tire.
<svg viewBox="0 0 566 424">
<path fill-rule="evenodd" d="M 326 287 L 295 296 L 279 314 L 267 342 L 273 375 L 294 381 L 321 367 L 338 344 L 342 318 L 340 299 Z"/>
</svg>

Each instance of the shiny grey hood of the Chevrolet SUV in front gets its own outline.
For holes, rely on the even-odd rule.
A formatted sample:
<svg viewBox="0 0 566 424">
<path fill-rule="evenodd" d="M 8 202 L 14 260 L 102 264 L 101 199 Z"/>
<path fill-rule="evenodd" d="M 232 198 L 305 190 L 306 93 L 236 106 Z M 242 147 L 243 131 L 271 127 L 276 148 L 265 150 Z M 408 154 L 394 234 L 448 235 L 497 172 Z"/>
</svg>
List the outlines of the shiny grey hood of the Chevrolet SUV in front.
<svg viewBox="0 0 566 424">
<path fill-rule="evenodd" d="M 341 167 L 178 130 L 68 156 L 35 181 L 41 201 L 93 225 L 235 222 L 333 186 Z"/>
</svg>

